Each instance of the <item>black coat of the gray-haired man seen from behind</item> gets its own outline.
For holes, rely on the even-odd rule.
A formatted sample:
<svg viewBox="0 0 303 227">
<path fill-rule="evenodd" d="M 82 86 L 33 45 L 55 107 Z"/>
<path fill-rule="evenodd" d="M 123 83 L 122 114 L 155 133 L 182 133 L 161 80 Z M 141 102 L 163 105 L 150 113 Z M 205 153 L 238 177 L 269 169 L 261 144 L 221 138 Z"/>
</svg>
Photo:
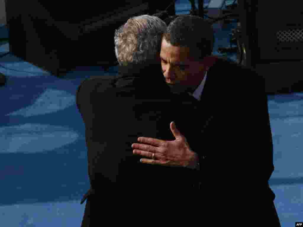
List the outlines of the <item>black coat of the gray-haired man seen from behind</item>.
<svg viewBox="0 0 303 227">
<path fill-rule="evenodd" d="M 197 190 L 201 186 L 199 171 L 142 164 L 142 157 L 134 156 L 131 148 L 140 136 L 174 140 L 169 124 L 175 121 L 198 150 L 198 101 L 189 95 L 172 94 L 160 65 L 120 67 L 119 75 L 118 79 L 87 79 L 77 92 L 77 106 L 85 123 L 91 184 L 81 202 L 87 199 L 82 226 L 95 222 L 98 225 L 101 217 L 104 221 L 112 212 L 120 218 L 130 217 L 129 203 L 136 207 L 136 219 L 146 218 L 150 212 L 168 215 L 169 210 L 177 215 L 179 207 L 195 210 L 201 195 Z M 181 195 L 188 192 L 192 199 L 183 199 Z M 178 196 L 180 201 L 176 201 Z M 155 202 L 157 210 L 150 202 Z M 108 210 L 100 213 L 102 207 Z"/>
</svg>

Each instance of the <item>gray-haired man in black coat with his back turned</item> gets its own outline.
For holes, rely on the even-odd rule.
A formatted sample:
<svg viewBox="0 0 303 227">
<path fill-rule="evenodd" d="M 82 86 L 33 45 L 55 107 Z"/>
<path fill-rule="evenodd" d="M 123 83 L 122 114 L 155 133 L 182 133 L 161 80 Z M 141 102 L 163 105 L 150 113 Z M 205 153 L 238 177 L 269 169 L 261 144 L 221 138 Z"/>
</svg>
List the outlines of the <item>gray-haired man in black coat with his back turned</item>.
<svg viewBox="0 0 303 227">
<path fill-rule="evenodd" d="M 131 148 L 142 135 L 173 140 L 168 125 L 175 121 L 191 147 L 198 150 L 198 142 L 191 140 L 201 128 L 196 123 L 198 102 L 188 94 L 171 93 L 161 72 L 159 55 L 165 30 L 160 18 L 130 18 L 115 32 L 119 76 L 86 79 L 78 87 L 76 100 L 85 123 L 90 179 L 90 189 L 81 201 L 87 199 L 82 227 L 109 221 L 114 225 L 115 219 L 109 220 L 112 216 L 132 224 L 143 223 L 146 218 L 149 224 L 159 224 L 163 218 L 178 216 L 165 220 L 171 225 L 198 215 L 194 214 L 195 204 L 201 203 L 198 171 L 142 165 Z M 194 157 L 189 162 L 195 166 L 191 163 Z M 153 195 L 159 192 L 169 198 L 165 206 L 156 205 L 155 211 L 146 202 L 157 199 Z M 188 195 L 186 200 L 175 200 L 184 193 Z M 135 212 L 130 209 L 133 207 Z"/>
</svg>

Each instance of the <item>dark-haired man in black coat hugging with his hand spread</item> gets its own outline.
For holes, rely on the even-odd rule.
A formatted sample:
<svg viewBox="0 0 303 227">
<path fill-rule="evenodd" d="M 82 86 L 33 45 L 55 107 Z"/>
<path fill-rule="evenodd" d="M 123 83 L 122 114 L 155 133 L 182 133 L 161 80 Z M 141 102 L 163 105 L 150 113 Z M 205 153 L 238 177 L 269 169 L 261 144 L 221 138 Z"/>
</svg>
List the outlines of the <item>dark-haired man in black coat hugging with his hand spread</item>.
<svg viewBox="0 0 303 227">
<path fill-rule="evenodd" d="M 211 25 L 196 16 L 172 21 L 161 44 L 166 83 L 174 92 L 188 92 L 200 101 L 198 150 L 171 123 L 175 140 L 142 135 L 132 144 L 133 153 L 145 157 L 142 163 L 201 172 L 204 200 L 199 207 L 207 208 L 204 220 L 280 226 L 268 184 L 274 170 L 273 144 L 263 81 L 249 68 L 211 56 L 213 44 Z M 195 162 L 189 162 L 192 159 Z M 161 201 L 167 198 L 154 194 Z M 183 199 L 187 195 L 176 198 Z"/>
</svg>

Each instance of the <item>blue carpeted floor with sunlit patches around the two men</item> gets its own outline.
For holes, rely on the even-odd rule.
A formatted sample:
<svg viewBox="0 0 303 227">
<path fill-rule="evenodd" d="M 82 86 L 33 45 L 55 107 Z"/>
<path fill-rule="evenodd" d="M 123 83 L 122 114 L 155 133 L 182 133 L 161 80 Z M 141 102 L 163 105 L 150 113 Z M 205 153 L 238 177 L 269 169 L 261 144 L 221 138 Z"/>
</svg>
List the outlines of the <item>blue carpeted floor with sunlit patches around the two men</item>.
<svg viewBox="0 0 303 227">
<path fill-rule="evenodd" d="M 177 14 L 189 9 L 188 1 L 177 1 Z M 219 46 L 229 46 L 234 27 L 229 24 L 215 34 L 214 54 L 220 55 Z M 2 26 L 0 38 L 5 37 Z M 0 46 L 0 56 L 8 51 L 8 43 Z M 236 60 L 235 54 L 227 57 Z M 8 77 L 0 87 L 0 226 L 80 226 L 85 208 L 80 199 L 89 180 L 75 93 L 85 78 L 116 70 L 79 66 L 59 79 L 12 54 L 0 58 L 0 72 Z M 268 106 L 275 164 L 270 185 L 281 225 L 292 227 L 303 221 L 303 94 L 268 96 Z"/>
</svg>

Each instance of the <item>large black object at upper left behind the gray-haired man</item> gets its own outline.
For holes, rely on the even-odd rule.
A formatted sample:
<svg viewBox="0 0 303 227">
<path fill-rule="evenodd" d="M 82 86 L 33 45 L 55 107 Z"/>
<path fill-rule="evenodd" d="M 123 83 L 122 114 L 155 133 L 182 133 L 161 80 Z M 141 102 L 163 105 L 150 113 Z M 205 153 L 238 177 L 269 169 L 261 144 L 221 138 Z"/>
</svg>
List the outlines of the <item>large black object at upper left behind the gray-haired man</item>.
<svg viewBox="0 0 303 227">
<path fill-rule="evenodd" d="M 130 17 L 168 10 L 171 0 L 61 1 L 5 0 L 10 52 L 23 61 L 62 77 L 77 66 L 117 64 L 114 32 Z"/>
</svg>

